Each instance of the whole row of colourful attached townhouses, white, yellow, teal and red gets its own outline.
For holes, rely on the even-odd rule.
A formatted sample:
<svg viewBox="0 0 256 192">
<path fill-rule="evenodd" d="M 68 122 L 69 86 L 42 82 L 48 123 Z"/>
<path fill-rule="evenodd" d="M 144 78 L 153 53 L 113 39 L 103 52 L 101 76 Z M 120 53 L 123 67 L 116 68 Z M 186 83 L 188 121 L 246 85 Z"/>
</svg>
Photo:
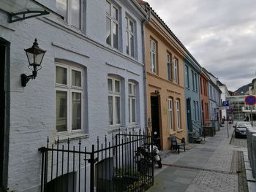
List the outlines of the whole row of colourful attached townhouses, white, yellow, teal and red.
<svg viewBox="0 0 256 192">
<path fill-rule="evenodd" d="M 0 58 L 2 190 L 42 191 L 47 139 L 142 129 L 167 150 L 222 117 L 217 77 L 145 1 L 1 0 Z"/>
</svg>

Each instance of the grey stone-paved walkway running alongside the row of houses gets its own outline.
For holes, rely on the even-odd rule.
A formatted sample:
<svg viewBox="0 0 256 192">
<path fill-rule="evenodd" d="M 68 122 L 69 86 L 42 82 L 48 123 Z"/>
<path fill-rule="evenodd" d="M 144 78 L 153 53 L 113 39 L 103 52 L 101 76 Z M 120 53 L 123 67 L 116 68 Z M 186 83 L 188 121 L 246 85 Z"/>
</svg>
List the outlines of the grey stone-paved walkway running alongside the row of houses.
<svg viewBox="0 0 256 192">
<path fill-rule="evenodd" d="M 233 128 L 229 128 L 230 135 Z M 156 169 L 154 186 L 148 191 L 247 191 L 238 186 L 238 157 L 246 150 L 246 139 L 227 138 L 222 127 L 204 144 L 195 144 L 180 154 L 167 152 L 162 169 Z M 241 182 L 239 182 L 241 183 Z M 242 184 L 241 184 L 242 185 Z"/>
</svg>

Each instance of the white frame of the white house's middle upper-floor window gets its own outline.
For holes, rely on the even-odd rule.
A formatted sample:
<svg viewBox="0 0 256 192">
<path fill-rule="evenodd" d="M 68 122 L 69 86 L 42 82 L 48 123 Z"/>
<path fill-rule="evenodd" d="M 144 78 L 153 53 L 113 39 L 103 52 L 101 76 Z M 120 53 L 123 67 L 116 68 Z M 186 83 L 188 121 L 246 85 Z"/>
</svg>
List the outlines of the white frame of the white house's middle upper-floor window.
<svg viewBox="0 0 256 192">
<path fill-rule="evenodd" d="M 106 18 L 110 19 L 110 38 L 111 38 L 110 44 L 108 44 L 107 39 L 106 39 L 106 43 L 107 43 L 107 45 L 110 45 L 111 47 L 118 50 L 119 49 L 119 33 L 120 33 L 120 30 L 119 30 L 119 20 L 120 20 L 119 12 L 120 12 L 120 10 L 111 1 L 106 1 L 106 2 L 108 2 L 110 4 L 110 14 L 108 14 L 108 12 L 106 12 Z M 117 20 L 116 20 L 116 18 L 113 18 L 113 15 L 112 15 L 113 8 L 117 9 L 117 11 L 118 11 Z M 114 24 L 117 25 L 117 47 L 114 47 L 114 38 L 113 38 L 113 31 L 112 31 Z"/>
</svg>

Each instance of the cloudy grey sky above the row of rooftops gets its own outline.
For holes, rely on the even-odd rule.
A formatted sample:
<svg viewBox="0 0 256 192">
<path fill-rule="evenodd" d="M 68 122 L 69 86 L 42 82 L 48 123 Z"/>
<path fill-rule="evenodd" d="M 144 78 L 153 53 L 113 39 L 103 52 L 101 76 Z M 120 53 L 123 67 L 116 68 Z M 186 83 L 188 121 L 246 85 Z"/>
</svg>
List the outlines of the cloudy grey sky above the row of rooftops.
<svg viewBox="0 0 256 192">
<path fill-rule="evenodd" d="M 144 0 L 231 91 L 256 77 L 255 0 Z"/>
</svg>

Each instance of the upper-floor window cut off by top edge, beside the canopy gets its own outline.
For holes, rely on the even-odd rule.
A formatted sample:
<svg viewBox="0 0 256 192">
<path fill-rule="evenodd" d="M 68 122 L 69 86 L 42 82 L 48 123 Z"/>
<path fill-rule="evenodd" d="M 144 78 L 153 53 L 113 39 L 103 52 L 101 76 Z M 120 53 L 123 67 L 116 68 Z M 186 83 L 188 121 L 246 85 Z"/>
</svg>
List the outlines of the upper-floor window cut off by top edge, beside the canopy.
<svg viewBox="0 0 256 192">
<path fill-rule="evenodd" d="M 81 28 L 81 0 L 56 0 L 57 12 L 75 28 Z"/>
</svg>

